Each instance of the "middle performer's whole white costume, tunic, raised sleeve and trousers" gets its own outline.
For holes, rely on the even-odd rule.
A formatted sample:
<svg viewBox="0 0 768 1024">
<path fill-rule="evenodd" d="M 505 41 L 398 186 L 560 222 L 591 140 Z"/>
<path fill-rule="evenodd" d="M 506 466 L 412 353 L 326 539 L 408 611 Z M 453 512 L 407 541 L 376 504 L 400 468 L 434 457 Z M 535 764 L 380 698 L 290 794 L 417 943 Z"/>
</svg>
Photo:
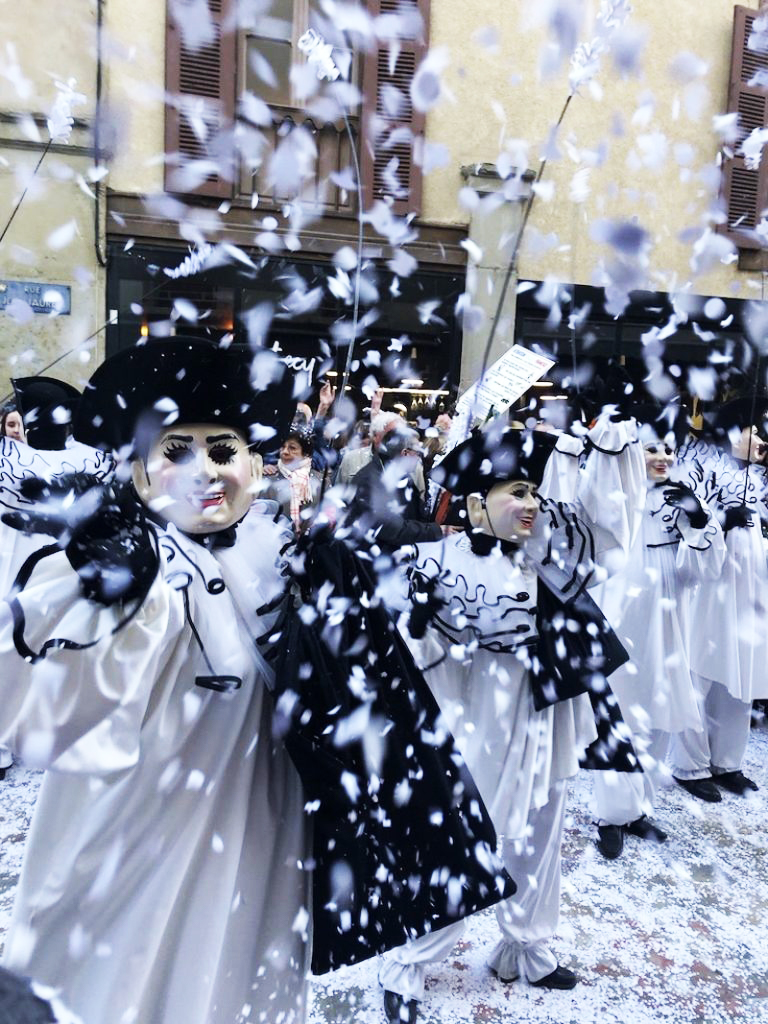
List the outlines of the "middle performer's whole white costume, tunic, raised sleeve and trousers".
<svg viewBox="0 0 768 1024">
<path fill-rule="evenodd" d="M 534 707 L 525 660 L 536 637 L 536 563 L 553 557 L 577 577 L 589 574 L 594 565 L 581 547 L 585 538 L 588 548 L 594 544 L 596 563 L 610 562 L 631 543 L 644 499 L 645 465 L 634 424 L 604 419 L 594 437 L 622 454 L 598 455 L 581 474 L 577 513 L 588 529 L 569 528 L 572 513 L 545 502 L 534 536 L 515 557 L 498 549 L 476 555 L 467 537 L 455 536 L 419 545 L 412 561 L 419 575 L 440 577 L 450 601 L 423 641 L 407 639 L 477 782 L 517 884 L 515 895 L 497 907 L 502 938 L 489 959 L 506 981 L 522 976 L 536 982 L 557 968 L 549 941 L 559 920 L 566 780 L 597 736 L 586 694 L 543 711 Z M 570 456 L 563 458 L 578 468 Z M 552 467 L 550 458 L 545 481 Z M 444 958 L 462 930 L 459 923 L 385 954 L 383 988 L 420 999 L 426 966 Z"/>
</svg>

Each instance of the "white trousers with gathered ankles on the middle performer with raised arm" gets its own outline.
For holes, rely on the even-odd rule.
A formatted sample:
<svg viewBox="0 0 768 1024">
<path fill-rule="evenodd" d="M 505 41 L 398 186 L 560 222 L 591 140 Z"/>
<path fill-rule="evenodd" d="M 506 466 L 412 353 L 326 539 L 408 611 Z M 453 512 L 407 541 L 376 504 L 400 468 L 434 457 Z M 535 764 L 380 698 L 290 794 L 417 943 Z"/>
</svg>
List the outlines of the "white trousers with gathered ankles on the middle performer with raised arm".
<svg viewBox="0 0 768 1024">
<path fill-rule="evenodd" d="M 503 981 L 546 978 L 557 967 L 547 942 L 557 930 L 560 913 L 560 845 L 565 814 L 564 781 L 549 791 L 544 807 L 528 813 L 526 837 L 503 840 L 504 865 L 517 892 L 499 903 L 496 916 L 502 933 L 488 967 Z M 428 964 L 444 959 L 464 931 L 464 922 L 424 935 L 382 957 L 379 982 L 407 999 L 424 995 Z"/>
</svg>

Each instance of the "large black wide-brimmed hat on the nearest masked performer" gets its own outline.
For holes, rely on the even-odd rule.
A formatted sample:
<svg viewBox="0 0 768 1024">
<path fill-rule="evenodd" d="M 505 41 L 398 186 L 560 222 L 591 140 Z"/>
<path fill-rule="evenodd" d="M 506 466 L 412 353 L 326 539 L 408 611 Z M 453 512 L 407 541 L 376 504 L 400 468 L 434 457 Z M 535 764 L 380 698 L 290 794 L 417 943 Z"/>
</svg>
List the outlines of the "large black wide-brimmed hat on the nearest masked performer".
<svg viewBox="0 0 768 1024">
<path fill-rule="evenodd" d="M 86 385 L 75 438 L 108 451 L 145 455 L 174 423 L 220 423 L 257 452 L 275 450 L 296 411 L 293 375 L 269 349 L 201 338 L 147 341 L 111 356 Z"/>
</svg>

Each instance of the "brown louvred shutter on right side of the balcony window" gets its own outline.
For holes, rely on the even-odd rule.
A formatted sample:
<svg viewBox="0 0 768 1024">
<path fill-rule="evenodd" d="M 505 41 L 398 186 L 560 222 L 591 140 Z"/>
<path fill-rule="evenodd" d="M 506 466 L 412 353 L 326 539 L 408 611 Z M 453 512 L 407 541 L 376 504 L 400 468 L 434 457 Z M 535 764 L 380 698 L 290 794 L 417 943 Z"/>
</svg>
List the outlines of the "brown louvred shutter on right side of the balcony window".
<svg viewBox="0 0 768 1024">
<path fill-rule="evenodd" d="M 412 8 L 421 14 L 424 28 L 422 38 L 398 41 L 394 63 L 388 46 L 366 55 L 360 129 L 364 206 L 390 197 L 394 213 L 419 213 L 422 172 L 414 148 L 424 138 L 425 119 L 411 102 L 411 83 L 428 49 L 429 0 L 369 0 L 368 8 L 374 17 Z M 396 113 L 393 101 L 398 101 Z M 396 166 L 390 166 L 393 160 Z"/>
</svg>

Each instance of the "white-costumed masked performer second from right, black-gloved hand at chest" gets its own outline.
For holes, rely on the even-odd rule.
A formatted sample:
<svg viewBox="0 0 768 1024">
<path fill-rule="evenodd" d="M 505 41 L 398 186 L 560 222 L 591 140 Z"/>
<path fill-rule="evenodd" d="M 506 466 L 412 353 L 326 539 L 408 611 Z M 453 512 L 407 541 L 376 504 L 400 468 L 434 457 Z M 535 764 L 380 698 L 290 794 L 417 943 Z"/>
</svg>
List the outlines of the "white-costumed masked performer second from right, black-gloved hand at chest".
<svg viewBox="0 0 768 1024">
<path fill-rule="evenodd" d="M 673 410 L 671 422 L 655 407 L 636 407 L 633 413 L 647 472 L 642 525 L 626 565 L 593 593 L 631 657 L 610 677 L 610 686 L 636 748 L 645 755 L 643 774 L 595 776 L 597 847 L 611 860 L 621 855 L 625 835 L 655 842 L 667 838 L 648 815 L 670 736 L 703 729 L 689 665 L 691 589 L 717 580 L 725 557 L 718 520 L 689 486 L 670 480 L 685 416 Z"/>
</svg>

